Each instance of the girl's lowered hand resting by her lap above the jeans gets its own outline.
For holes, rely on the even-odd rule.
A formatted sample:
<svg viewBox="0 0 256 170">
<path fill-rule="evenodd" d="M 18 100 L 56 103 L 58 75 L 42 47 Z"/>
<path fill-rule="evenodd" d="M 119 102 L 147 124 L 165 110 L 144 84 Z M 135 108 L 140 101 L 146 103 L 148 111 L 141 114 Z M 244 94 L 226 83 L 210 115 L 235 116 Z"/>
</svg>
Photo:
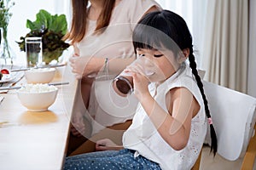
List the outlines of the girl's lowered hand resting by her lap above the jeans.
<svg viewBox="0 0 256 170">
<path fill-rule="evenodd" d="M 110 139 L 101 139 L 96 141 L 96 150 L 102 151 L 102 150 L 121 150 L 123 149 L 122 146 L 119 146 L 118 144 L 113 143 Z"/>
</svg>

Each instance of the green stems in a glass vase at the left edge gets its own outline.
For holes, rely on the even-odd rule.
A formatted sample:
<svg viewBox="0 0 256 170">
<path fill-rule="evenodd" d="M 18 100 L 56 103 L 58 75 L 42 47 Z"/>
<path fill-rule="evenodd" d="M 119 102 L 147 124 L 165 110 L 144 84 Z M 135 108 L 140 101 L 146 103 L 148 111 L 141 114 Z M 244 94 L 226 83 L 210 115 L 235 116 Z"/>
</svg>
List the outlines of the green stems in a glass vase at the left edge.
<svg viewBox="0 0 256 170">
<path fill-rule="evenodd" d="M 9 42 L 7 39 L 7 31 L 9 26 L 9 20 L 12 16 L 12 13 L 9 12 L 9 9 L 15 5 L 11 0 L 0 0 L 0 58 L 3 58 L 6 64 L 6 59 L 11 59 Z"/>
</svg>

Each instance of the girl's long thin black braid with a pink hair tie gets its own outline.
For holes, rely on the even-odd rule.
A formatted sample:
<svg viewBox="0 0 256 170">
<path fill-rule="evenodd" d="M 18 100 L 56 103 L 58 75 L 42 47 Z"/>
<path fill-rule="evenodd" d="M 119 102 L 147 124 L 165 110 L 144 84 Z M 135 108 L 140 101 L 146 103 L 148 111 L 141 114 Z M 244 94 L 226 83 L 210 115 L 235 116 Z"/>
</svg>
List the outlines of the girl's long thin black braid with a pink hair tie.
<svg viewBox="0 0 256 170">
<path fill-rule="evenodd" d="M 193 54 L 193 48 L 189 48 L 189 66 L 192 69 L 192 73 L 195 76 L 195 80 L 197 82 L 197 85 L 200 89 L 201 92 L 201 96 L 204 100 L 204 105 L 205 105 L 205 111 L 206 111 L 206 115 L 207 118 L 211 118 L 211 114 L 210 114 L 210 110 L 208 107 L 208 101 L 207 101 L 207 97 L 206 94 L 204 92 L 204 88 L 203 88 L 203 83 L 201 82 L 201 77 L 199 77 L 198 75 L 198 71 L 196 69 L 196 63 L 195 63 L 195 56 Z M 211 131 L 211 151 L 213 150 L 213 155 L 216 155 L 217 149 L 218 149 L 218 144 L 217 144 L 217 136 L 214 130 L 214 127 L 212 125 L 212 123 L 210 124 L 210 131 Z"/>
</svg>

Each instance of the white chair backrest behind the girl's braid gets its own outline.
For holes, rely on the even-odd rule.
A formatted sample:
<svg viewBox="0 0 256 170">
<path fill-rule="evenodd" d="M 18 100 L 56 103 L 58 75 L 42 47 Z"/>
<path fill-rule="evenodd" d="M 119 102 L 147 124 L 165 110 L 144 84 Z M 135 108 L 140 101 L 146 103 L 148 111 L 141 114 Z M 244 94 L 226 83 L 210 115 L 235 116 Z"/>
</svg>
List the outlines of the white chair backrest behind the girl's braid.
<svg viewBox="0 0 256 170">
<path fill-rule="evenodd" d="M 256 99 L 230 88 L 203 82 L 218 138 L 218 154 L 230 161 L 244 156 L 253 136 Z M 206 141 L 210 144 L 209 128 Z"/>
</svg>

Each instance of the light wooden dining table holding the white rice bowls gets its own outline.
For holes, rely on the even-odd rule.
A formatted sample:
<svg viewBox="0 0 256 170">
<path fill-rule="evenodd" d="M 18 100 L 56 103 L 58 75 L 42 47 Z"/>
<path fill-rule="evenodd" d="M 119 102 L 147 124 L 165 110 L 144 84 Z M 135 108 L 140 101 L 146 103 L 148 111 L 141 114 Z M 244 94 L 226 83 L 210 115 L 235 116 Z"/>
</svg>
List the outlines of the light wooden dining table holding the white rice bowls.
<svg viewBox="0 0 256 170">
<path fill-rule="evenodd" d="M 27 111 L 15 90 L 0 94 L 0 169 L 62 169 L 77 81 L 66 65 L 56 68 L 52 82 L 69 84 L 57 86 L 55 103 L 48 111 Z M 15 86 L 25 83 L 22 78 Z"/>
</svg>

